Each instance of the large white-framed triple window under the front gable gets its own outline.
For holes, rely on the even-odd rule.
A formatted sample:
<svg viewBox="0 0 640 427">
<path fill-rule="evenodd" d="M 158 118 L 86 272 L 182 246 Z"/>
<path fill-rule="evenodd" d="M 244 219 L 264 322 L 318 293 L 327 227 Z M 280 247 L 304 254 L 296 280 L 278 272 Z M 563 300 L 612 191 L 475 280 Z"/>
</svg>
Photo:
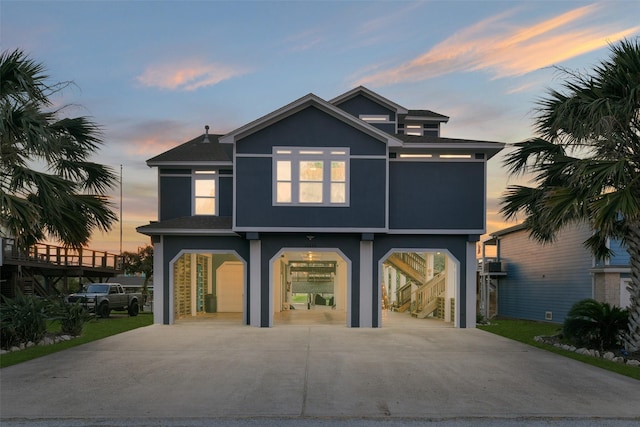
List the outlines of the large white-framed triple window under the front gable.
<svg viewBox="0 0 640 427">
<path fill-rule="evenodd" d="M 273 204 L 347 206 L 348 148 L 273 149 Z"/>
</svg>

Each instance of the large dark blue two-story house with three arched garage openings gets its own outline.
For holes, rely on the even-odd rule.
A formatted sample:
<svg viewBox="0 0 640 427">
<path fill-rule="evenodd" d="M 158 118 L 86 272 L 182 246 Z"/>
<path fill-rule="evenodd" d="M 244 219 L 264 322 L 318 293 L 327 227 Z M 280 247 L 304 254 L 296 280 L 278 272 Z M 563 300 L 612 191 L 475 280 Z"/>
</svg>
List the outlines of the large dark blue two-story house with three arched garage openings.
<svg viewBox="0 0 640 427">
<path fill-rule="evenodd" d="M 393 309 L 474 327 L 487 161 L 504 144 L 442 138 L 447 121 L 357 87 L 149 159 L 155 322 L 269 327 L 302 309 L 380 327 Z"/>
</svg>

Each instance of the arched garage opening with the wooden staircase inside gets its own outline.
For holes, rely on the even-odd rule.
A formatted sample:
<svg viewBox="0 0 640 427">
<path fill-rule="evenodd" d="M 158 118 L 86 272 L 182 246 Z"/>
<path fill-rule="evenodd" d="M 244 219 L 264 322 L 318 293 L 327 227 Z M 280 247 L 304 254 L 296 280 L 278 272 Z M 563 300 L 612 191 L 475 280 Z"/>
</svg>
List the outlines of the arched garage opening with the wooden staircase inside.
<svg viewBox="0 0 640 427">
<path fill-rule="evenodd" d="M 392 252 L 382 262 L 382 322 L 389 315 L 455 322 L 457 265 L 444 251 Z"/>
</svg>

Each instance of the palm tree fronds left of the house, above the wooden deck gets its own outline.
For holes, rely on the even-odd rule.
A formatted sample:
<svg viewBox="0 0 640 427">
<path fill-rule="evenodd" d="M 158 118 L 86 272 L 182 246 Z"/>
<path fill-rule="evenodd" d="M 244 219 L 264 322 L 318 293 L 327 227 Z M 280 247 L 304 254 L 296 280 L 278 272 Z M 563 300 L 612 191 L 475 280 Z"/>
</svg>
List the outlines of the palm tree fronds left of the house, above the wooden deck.
<svg viewBox="0 0 640 427">
<path fill-rule="evenodd" d="M 42 64 L 20 50 L 0 55 L 0 235 L 27 247 L 44 238 L 88 243 L 117 219 L 104 193 L 116 175 L 89 161 L 101 144 L 86 117 L 61 117 Z"/>
</svg>

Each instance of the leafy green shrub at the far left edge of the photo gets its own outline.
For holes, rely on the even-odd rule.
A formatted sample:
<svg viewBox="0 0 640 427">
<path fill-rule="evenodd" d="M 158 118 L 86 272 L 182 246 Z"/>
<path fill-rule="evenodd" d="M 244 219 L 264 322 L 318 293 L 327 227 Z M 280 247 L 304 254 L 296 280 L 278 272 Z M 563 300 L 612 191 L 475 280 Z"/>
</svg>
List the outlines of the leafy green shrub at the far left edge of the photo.
<svg viewBox="0 0 640 427">
<path fill-rule="evenodd" d="M 38 342 L 47 331 L 51 303 L 45 298 L 19 293 L 15 298 L 3 297 L 0 305 L 2 341 Z M 10 335 L 14 336 L 11 338 Z"/>
</svg>

